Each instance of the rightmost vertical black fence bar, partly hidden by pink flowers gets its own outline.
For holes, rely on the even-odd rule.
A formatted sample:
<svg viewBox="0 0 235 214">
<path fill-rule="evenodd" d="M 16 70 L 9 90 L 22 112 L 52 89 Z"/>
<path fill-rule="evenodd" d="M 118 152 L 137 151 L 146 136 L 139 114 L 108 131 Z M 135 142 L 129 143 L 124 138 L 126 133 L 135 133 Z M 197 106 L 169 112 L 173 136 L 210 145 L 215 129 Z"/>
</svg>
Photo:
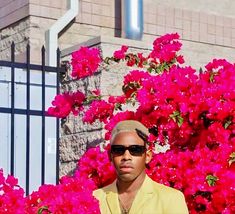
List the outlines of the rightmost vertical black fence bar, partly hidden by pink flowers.
<svg viewBox="0 0 235 214">
<path fill-rule="evenodd" d="M 56 72 L 56 94 L 60 92 L 59 78 L 60 78 L 60 50 L 57 48 L 57 72 Z M 59 119 L 56 119 L 56 184 L 59 183 L 59 165 L 60 165 L 60 155 L 59 155 L 59 137 L 60 137 L 60 127 Z"/>
</svg>

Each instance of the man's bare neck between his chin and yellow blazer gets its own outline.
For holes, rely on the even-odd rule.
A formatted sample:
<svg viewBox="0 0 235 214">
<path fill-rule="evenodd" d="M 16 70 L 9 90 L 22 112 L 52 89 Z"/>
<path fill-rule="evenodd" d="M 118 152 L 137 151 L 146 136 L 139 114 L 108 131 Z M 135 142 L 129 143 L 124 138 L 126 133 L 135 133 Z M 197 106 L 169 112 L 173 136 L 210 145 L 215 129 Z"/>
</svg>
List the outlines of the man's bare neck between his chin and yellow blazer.
<svg viewBox="0 0 235 214">
<path fill-rule="evenodd" d="M 117 189 L 119 194 L 135 194 L 145 179 L 145 172 L 142 172 L 135 180 L 126 182 L 121 179 L 117 179 Z"/>
</svg>

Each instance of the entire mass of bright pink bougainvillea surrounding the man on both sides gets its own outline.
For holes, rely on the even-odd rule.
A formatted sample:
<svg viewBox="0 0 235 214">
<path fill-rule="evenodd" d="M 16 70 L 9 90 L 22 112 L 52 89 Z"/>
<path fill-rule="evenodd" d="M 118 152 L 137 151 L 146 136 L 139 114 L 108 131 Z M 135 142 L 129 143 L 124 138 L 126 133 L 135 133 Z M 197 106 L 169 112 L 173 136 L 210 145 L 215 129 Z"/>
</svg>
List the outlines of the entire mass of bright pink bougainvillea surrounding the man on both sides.
<svg viewBox="0 0 235 214">
<path fill-rule="evenodd" d="M 128 47 L 122 46 L 104 63 L 122 61 L 135 66 L 124 77 L 123 94 L 103 99 L 97 90 L 87 96 L 79 91 L 66 92 L 55 97 L 48 113 L 59 118 L 70 113 L 76 116 L 84 110 L 83 104 L 89 103 L 83 120 L 103 122 L 106 140 L 119 121 L 139 120 L 149 128 L 150 148 L 155 153 L 147 174 L 159 183 L 181 190 L 190 213 L 232 214 L 235 213 L 235 65 L 214 59 L 197 72 L 190 66 L 182 66 L 180 48 L 178 34 L 157 38 L 148 56 L 128 53 Z M 96 49 L 82 48 L 72 57 L 74 78 L 93 74 L 101 62 Z M 123 110 L 129 104 L 134 110 Z M 79 160 L 74 177 L 63 178 L 57 186 L 44 185 L 26 199 L 23 193 L 18 194 L 15 201 L 20 203 L 9 204 L 16 209 L 19 204 L 25 206 L 26 213 L 99 213 L 92 191 L 115 179 L 108 149 L 109 146 L 104 150 L 89 149 Z M 9 182 L 0 174 L 0 188 L 2 183 Z M 1 191 L 7 194 L 2 197 Z M 12 191 L 15 183 L 9 191 L 0 189 L 0 209 L 8 206 L 7 199 L 2 198 L 14 197 Z"/>
</svg>

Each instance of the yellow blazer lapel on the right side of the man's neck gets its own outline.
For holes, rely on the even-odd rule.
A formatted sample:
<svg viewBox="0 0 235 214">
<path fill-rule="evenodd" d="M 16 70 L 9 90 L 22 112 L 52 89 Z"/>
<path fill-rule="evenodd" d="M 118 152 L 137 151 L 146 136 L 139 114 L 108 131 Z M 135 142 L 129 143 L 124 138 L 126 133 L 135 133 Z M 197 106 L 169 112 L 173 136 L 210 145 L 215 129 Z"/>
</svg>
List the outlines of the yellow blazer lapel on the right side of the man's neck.
<svg viewBox="0 0 235 214">
<path fill-rule="evenodd" d="M 145 180 L 140 187 L 138 193 L 135 196 L 135 199 L 132 203 L 130 214 L 140 213 L 141 209 L 144 207 L 143 205 L 149 201 L 150 198 L 153 197 L 153 188 L 150 181 L 150 178 L 146 175 Z"/>
</svg>

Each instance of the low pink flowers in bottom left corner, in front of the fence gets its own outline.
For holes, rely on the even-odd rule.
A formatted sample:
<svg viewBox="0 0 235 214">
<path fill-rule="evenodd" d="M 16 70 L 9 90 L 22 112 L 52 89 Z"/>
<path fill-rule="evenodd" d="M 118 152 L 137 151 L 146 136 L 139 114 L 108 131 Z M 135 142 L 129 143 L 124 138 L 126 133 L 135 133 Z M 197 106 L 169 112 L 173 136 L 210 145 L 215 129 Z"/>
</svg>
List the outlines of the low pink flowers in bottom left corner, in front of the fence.
<svg viewBox="0 0 235 214">
<path fill-rule="evenodd" d="M 0 213 L 100 213 L 92 192 L 97 188 L 87 177 L 64 176 L 58 185 L 42 185 L 38 191 L 24 196 L 13 176 L 5 178 L 0 170 Z"/>
</svg>

